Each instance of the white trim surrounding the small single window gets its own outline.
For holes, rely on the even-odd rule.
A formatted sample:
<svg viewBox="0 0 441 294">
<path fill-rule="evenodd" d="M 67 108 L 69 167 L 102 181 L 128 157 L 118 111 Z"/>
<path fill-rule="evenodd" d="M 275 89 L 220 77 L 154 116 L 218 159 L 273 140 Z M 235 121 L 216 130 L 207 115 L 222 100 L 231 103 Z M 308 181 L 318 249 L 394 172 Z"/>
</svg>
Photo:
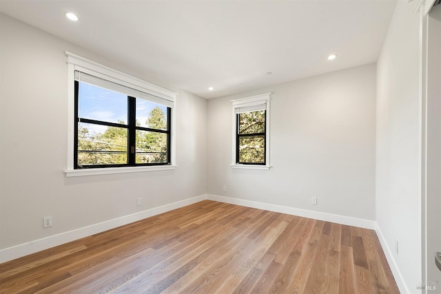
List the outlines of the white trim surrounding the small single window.
<svg viewBox="0 0 441 294">
<path fill-rule="evenodd" d="M 260 94 L 260 95 L 256 95 L 256 96 L 250 96 L 250 97 L 245 97 L 245 98 L 240 98 L 240 99 L 236 99 L 236 100 L 232 100 L 232 117 L 233 117 L 233 149 L 232 149 L 232 165 L 231 167 L 233 169 L 266 169 L 269 170 L 271 168 L 271 165 L 269 165 L 269 142 L 270 142 L 270 136 L 269 136 L 269 116 L 270 116 L 270 111 L 269 111 L 269 101 L 271 100 L 271 93 L 265 93 L 265 94 Z M 266 157 L 266 162 L 265 165 L 241 165 L 236 163 L 236 108 L 240 108 L 240 107 L 251 107 L 254 105 L 261 105 L 261 104 L 266 104 L 266 109 L 267 109 L 267 117 L 266 117 L 266 121 L 265 121 L 265 136 L 267 137 L 267 145 L 265 147 L 265 157 Z"/>
</svg>

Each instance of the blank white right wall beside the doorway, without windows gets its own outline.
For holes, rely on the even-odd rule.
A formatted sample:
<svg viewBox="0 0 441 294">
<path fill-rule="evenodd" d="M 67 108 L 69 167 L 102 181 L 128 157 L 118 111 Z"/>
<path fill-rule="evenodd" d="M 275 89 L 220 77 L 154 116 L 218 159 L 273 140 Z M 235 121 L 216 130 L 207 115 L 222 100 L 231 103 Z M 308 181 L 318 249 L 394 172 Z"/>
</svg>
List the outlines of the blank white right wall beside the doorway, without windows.
<svg viewBox="0 0 441 294">
<path fill-rule="evenodd" d="M 392 267 L 406 288 L 400 280 L 398 286 L 410 293 L 418 293 L 422 279 L 420 21 L 415 5 L 398 0 L 377 63 L 376 220 L 389 262 L 396 262 Z"/>
</svg>

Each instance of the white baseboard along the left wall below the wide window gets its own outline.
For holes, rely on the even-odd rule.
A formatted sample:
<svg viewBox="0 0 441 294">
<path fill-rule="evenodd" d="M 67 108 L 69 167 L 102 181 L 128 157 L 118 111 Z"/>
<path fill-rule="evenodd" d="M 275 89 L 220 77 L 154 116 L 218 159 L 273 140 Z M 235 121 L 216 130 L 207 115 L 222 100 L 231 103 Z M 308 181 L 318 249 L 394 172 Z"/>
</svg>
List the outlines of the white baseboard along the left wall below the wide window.
<svg viewBox="0 0 441 294">
<path fill-rule="evenodd" d="M 133 213 L 128 216 L 122 216 L 121 218 L 114 218 L 113 220 L 107 220 L 98 224 L 92 224 L 88 227 L 74 229 L 72 231 L 59 233 L 58 235 L 52 235 L 47 238 L 42 238 L 39 240 L 34 240 L 32 242 L 12 246 L 6 249 L 1 249 L 0 263 L 8 262 L 9 260 L 14 260 L 16 258 L 21 258 L 22 256 L 49 249 L 54 246 L 65 244 L 67 242 L 78 240 L 89 235 L 101 233 L 103 231 L 114 229 L 116 227 L 121 227 L 125 224 L 130 224 L 131 222 L 143 220 L 144 218 L 150 218 L 150 216 L 156 216 L 160 213 L 171 211 L 180 207 L 185 207 L 186 205 L 193 204 L 205 199 L 207 199 L 207 195 L 196 196 L 178 202 L 165 204 L 160 207 L 154 207 L 145 211 Z"/>
</svg>

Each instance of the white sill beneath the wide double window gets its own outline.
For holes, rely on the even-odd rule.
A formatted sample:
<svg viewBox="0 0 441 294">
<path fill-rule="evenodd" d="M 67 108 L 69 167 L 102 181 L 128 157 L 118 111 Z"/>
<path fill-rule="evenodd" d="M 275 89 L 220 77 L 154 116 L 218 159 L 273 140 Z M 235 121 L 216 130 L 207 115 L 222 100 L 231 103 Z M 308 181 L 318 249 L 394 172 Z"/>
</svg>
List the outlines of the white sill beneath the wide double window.
<svg viewBox="0 0 441 294">
<path fill-rule="evenodd" d="M 74 177 L 107 174 L 127 174 L 145 171 L 167 171 L 170 169 L 176 169 L 176 165 L 152 165 L 148 167 L 107 167 L 102 169 L 66 169 L 64 173 L 66 174 L 66 177 Z"/>
</svg>

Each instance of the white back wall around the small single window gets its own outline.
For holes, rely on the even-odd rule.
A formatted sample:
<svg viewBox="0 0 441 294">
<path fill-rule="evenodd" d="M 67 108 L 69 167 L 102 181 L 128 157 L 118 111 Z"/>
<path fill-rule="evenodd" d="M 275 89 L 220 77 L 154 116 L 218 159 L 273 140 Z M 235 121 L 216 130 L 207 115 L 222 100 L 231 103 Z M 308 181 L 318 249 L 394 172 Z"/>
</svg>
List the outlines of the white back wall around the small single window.
<svg viewBox="0 0 441 294">
<path fill-rule="evenodd" d="M 271 169 L 232 169 L 230 101 L 267 92 Z M 374 220 L 375 100 L 370 64 L 208 101 L 208 193 Z"/>
</svg>

